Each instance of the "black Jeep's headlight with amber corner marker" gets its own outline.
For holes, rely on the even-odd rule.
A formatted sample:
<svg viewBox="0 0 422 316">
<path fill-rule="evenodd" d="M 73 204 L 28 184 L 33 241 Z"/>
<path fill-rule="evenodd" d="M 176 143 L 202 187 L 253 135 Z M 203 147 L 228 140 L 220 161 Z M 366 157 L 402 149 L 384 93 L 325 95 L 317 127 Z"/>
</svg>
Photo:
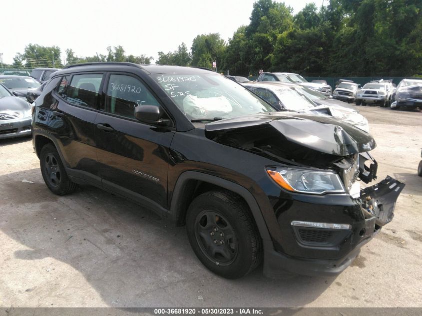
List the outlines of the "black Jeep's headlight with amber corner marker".
<svg viewBox="0 0 422 316">
<path fill-rule="evenodd" d="M 340 176 L 330 171 L 293 168 L 267 168 L 269 176 L 283 189 L 298 193 L 345 193 Z"/>
</svg>

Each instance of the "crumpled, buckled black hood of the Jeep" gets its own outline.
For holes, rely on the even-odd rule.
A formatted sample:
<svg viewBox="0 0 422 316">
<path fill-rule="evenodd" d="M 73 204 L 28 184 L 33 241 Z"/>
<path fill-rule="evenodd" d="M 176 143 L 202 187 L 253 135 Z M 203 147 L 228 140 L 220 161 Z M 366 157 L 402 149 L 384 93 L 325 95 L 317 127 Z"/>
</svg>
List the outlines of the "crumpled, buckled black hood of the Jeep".
<svg viewBox="0 0 422 316">
<path fill-rule="evenodd" d="M 269 125 L 288 141 L 319 152 L 349 156 L 376 147 L 374 138 L 348 123 L 328 116 L 273 112 L 223 119 L 205 125 L 205 134 L 213 139 L 224 133 Z"/>
</svg>

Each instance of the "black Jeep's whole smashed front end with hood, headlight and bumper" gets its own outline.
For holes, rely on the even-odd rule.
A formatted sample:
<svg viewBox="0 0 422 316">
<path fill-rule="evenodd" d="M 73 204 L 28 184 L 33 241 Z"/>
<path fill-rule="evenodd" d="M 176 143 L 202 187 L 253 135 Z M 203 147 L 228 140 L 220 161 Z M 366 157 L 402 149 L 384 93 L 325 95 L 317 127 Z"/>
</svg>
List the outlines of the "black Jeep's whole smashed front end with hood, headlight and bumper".
<svg viewBox="0 0 422 316">
<path fill-rule="evenodd" d="M 349 266 L 360 247 L 393 219 L 405 186 L 388 176 L 362 188 L 377 179 L 378 164 L 369 153 L 376 143 L 330 117 L 255 115 L 207 124 L 205 134 L 272 161 L 265 167 L 279 188 L 266 192 L 280 227 L 274 247 L 278 257 L 300 258 L 289 263 L 286 257 L 283 265 L 292 271 L 304 265 L 302 274 L 336 274 Z M 311 266 L 305 264 L 309 260 Z"/>
</svg>

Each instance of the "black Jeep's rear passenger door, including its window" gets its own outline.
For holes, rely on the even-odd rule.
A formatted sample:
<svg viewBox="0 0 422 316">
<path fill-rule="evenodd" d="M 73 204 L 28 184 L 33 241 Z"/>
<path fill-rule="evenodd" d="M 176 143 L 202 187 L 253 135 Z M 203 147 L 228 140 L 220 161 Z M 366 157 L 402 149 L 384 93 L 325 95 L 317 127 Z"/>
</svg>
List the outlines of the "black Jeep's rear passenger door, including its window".
<svg viewBox="0 0 422 316">
<path fill-rule="evenodd" d="M 49 121 L 70 176 L 101 185 L 97 170 L 95 118 L 100 107 L 103 73 L 63 76 L 53 93 Z"/>
</svg>

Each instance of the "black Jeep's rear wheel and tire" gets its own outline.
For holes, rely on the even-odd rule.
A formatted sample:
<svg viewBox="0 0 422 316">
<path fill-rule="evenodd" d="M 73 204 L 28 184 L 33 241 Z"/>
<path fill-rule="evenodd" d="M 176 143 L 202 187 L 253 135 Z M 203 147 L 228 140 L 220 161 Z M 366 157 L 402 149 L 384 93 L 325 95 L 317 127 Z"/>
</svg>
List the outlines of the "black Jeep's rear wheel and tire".
<svg viewBox="0 0 422 316">
<path fill-rule="evenodd" d="M 76 184 L 67 176 L 57 149 L 52 144 L 42 147 L 39 154 L 42 178 L 54 194 L 65 195 L 75 190 Z"/>
</svg>

